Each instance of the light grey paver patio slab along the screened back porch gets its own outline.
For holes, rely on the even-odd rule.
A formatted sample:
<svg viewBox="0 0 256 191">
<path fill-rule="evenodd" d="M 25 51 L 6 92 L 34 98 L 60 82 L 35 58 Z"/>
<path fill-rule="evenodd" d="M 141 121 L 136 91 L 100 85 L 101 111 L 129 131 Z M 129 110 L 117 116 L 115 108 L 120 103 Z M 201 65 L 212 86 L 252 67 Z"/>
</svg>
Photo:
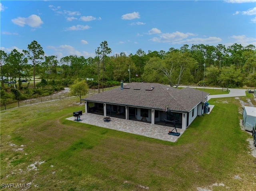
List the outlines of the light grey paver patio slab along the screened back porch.
<svg viewBox="0 0 256 191">
<path fill-rule="evenodd" d="M 82 121 L 79 122 L 170 142 L 176 142 L 185 131 L 183 129 L 177 128 L 180 136 L 173 136 L 168 134 L 168 131 L 173 129 L 172 127 L 114 117 L 111 117 L 110 122 L 104 122 L 103 118 L 104 116 L 102 115 L 83 113 L 80 117 Z M 75 118 L 72 116 L 66 119 L 74 121 Z"/>
</svg>

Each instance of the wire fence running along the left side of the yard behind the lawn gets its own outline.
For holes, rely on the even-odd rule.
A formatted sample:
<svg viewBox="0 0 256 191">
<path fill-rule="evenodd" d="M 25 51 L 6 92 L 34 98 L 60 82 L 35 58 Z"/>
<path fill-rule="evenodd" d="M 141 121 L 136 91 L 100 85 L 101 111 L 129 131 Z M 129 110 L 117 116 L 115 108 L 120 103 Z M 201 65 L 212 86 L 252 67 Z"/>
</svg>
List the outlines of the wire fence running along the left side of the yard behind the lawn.
<svg viewBox="0 0 256 191">
<path fill-rule="evenodd" d="M 104 91 L 109 90 L 109 89 L 111 89 L 111 88 L 110 87 L 104 88 Z M 100 92 L 102 92 L 102 89 L 100 89 Z M 98 89 L 90 89 L 89 93 L 87 95 L 94 94 L 94 93 L 98 93 Z M 49 102 L 49 101 L 56 101 L 56 100 L 72 98 L 72 97 L 75 97 L 75 96 L 72 96 L 69 93 L 69 91 L 60 91 L 56 94 L 49 95 L 49 96 L 31 98 L 31 99 L 27 99 L 27 100 L 13 102 L 13 103 L 10 103 L 10 104 L 4 104 L 4 105 L 1 105 L 0 110 L 3 111 L 3 110 L 12 109 L 12 108 L 17 108 L 17 107 L 22 107 L 22 106 L 27 106 L 27 105 L 33 105 L 33 104 L 39 104 L 39 103 Z"/>
</svg>

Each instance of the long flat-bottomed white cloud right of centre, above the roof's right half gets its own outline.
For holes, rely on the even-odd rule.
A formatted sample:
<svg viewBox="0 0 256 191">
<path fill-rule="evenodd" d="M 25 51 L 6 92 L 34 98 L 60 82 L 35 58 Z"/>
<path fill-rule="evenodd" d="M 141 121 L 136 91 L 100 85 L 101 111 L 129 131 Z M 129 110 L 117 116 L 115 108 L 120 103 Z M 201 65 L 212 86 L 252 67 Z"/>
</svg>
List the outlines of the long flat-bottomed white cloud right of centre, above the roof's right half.
<svg viewBox="0 0 256 191">
<path fill-rule="evenodd" d="M 159 35 L 159 37 L 154 37 L 152 39 L 149 39 L 154 42 L 163 42 L 163 43 L 169 43 L 169 42 L 175 42 L 175 41 L 181 41 L 188 36 L 194 36 L 193 33 L 182 33 L 182 32 L 173 32 L 173 33 L 162 33 Z"/>
</svg>

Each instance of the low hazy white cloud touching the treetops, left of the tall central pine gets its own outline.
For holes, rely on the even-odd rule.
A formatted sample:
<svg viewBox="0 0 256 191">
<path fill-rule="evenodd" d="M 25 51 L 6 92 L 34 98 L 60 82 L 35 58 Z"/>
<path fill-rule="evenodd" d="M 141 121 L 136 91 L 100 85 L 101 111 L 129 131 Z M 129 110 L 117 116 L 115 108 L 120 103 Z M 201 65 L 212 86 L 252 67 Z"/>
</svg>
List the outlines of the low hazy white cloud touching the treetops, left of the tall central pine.
<svg viewBox="0 0 256 191">
<path fill-rule="evenodd" d="M 58 56 L 61 55 L 60 57 L 69 56 L 69 55 L 77 55 L 77 56 L 84 56 L 84 57 L 94 57 L 95 56 L 94 53 L 88 53 L 86 51 L 80 52 L 70 45 L 60 45 L 58 47 L 47 46 L 46 48 L 53 49 L 54 51 L 56 51 L 56 53 L 54 55 L 58 55 Z"/>
</svg>

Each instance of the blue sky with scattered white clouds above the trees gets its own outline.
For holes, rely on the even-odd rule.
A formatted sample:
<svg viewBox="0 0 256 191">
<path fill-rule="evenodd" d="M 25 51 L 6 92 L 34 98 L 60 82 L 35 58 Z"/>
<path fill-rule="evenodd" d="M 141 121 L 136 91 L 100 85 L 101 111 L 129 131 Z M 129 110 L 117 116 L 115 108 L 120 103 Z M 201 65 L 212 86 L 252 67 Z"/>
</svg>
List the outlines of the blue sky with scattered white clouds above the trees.
<svg viewBox="0 0 256 191">
<path fill-rule="evenodd" d="M 94 57 L 168 51 L 188 44 L 256 45 L 256 0 L 0 1 L 0 47 L 22 52 L 36 40 L 46 55 Z"/>
</svg>

